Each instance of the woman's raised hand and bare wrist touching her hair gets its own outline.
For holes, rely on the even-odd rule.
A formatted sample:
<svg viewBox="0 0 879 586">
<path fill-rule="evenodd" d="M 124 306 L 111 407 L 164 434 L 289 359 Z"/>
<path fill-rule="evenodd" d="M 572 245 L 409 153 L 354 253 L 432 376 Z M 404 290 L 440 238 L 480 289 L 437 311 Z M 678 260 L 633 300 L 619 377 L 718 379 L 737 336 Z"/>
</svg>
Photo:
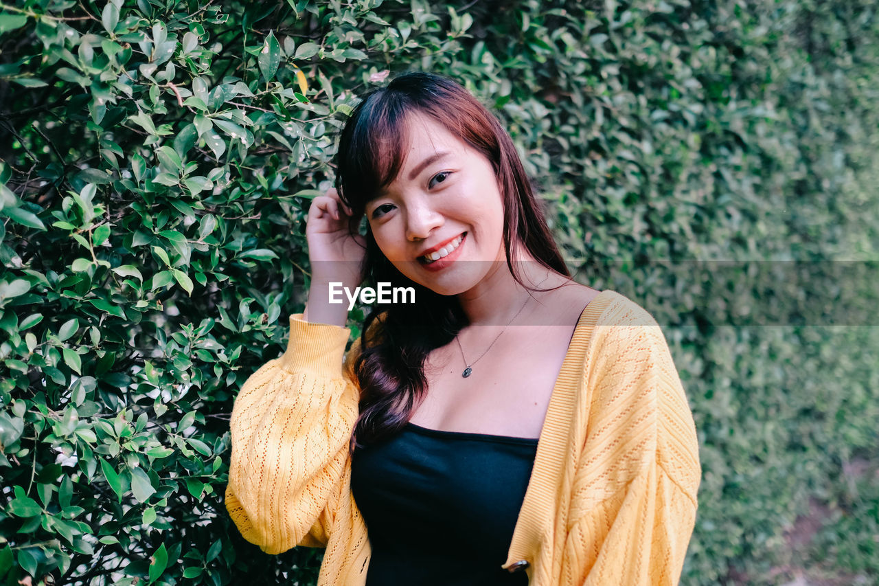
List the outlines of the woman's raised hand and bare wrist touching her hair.
<svg viewBox="0 0 879 586">
<path fill-rule="evenodd" d="M 351 209 L 339 200 L 335 189 L 329 189 L 311 201 L 305 226 L 311 262 L 309 321 L 345 324 L 347 302 L 329 304 L 329 284 L 338 282 L 342 287 L 354 290 L 363 282 L 366 240 L 352 231 L 356 225 L 354 219 Z"/>
</svg>

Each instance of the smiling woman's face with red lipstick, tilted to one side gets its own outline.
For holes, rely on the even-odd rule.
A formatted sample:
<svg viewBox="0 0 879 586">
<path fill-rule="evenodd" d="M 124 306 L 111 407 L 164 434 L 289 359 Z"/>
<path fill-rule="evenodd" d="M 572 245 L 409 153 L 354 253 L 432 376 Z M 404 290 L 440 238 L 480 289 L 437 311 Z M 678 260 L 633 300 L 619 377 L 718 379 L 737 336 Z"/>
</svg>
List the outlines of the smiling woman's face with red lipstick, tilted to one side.
<svg viewBox="0 0 879 586">
<path fill-rule="evenodd" d="M 429 117 L 412 114 L 406 124 L 400 173 L 367 203 L 367 219 L 397 270 L 441 295 L 457 295 L 505 261 L 498 178 L 482 153 Z"/>
</svg>

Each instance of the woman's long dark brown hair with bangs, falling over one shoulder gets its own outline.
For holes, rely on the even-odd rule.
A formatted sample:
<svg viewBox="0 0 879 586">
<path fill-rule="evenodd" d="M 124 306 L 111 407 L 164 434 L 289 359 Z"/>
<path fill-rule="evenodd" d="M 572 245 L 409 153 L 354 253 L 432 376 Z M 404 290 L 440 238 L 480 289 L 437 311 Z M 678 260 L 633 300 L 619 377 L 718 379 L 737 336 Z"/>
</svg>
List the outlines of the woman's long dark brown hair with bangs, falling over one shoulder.
<svg viewBox="0 0 879 586">
<path fill-rule="evenodd" d="M 408 146 L 405 119 L 414 113 L 431 117 L 490 161 L 504 202 L 506 264 L 515 280 L 526 286 L 512 262 L 519 243 L 544 267 L 570 276 L 512 139 L 476 98 L 446 77 L 404 74 L 354 108 L 336 156 L 336 187 L 353 216 L 360 217 L 367 202 L 400 172 Z M 457 297 L 439 295 L 401 274 L 381 253 L 368 227 L 364 264 L 367 282 L 412 287 L 415 303 L 376 306 L 364 323 L 354 363 L 360 416 L 352 450 L 403 428 L 427 390 L 427 355 L 468 325 Z"/>
</svg>

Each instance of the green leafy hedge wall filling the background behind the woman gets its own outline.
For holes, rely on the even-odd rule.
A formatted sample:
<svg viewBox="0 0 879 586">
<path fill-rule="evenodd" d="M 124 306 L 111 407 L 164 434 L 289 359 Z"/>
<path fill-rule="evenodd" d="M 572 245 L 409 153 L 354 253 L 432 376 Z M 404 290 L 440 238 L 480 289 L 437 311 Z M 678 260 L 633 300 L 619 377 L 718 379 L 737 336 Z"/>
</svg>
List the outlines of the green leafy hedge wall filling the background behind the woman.
<svg viewBox="0 0 879 586">
<path fill-rule="evenodd" d="M 314 581 L 230 523 L 229 412 L 301 311 L 338 128 L 430 70 L 510 129 L 579 280 L 664 326 L 682 583 L 879 583 L 876 11 L 4 0 L 0 581 Z"/>
</svg>

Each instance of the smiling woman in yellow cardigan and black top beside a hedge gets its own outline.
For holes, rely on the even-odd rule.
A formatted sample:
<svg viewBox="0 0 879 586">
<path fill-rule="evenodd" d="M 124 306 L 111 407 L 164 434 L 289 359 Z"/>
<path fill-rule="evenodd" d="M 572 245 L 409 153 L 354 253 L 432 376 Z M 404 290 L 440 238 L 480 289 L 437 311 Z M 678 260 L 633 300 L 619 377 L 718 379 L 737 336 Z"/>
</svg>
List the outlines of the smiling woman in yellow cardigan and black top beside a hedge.
<svg viewBox="0 0 879 586">
<path fill-rule="evenodd" d="M 404 75 L 355 109 L 337 162 L 306 311 L 232 414 L 243 536 L 325 546 L 320 584 L 676 583 L 700 468 L 665 338 L 571 281 L 498 121 Z M 331 293 L 364 278 L 414 302 L 377 304 L 343 367 Z"/>
</svg>

